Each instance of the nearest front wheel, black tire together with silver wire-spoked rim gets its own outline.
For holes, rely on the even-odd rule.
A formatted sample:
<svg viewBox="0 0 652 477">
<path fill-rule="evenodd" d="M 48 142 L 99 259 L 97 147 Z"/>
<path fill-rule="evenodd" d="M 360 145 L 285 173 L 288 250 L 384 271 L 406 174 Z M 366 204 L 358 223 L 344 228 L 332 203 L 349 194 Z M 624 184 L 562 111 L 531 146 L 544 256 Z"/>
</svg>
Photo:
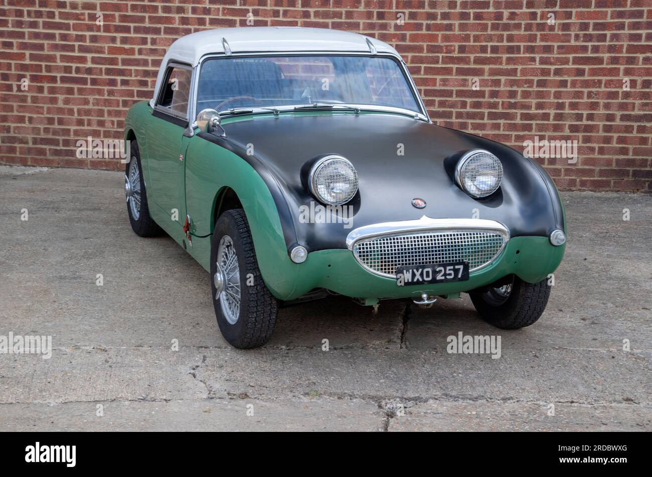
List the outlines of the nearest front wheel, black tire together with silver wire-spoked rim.
<svg viewBox="0 0 652 477">
<path fill-rule="evenodd" d="M 236 348 L 269 341 L 278 304 L 260 275 L 244 210 L 224 212 L 211 242 L 211 291 L 222 335 Z"/>
</svg>

